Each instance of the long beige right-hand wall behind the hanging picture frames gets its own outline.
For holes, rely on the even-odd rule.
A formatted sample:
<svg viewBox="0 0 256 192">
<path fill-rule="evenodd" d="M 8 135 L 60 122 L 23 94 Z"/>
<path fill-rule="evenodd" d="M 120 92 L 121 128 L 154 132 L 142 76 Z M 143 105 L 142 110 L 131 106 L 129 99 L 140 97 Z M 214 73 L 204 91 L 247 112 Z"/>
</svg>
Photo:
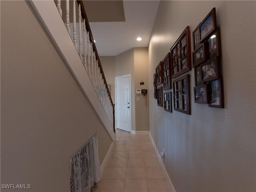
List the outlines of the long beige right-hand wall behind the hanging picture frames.
<svg viewBox="0 0 256 192">
<path fill-rule="evenodd" d="M 255 191 L 255 1 L 160 1 L 149 45 L 150 133 L 176 191 Z M 167 113 L 153 97 L 153 74 L 186 26 L 216 7 L 225 108 L 194 103 Z M 192 38 L 191 38 L 192 39 Z M 194 69 L 188 72 L 194 87 Z"/>
</svg>

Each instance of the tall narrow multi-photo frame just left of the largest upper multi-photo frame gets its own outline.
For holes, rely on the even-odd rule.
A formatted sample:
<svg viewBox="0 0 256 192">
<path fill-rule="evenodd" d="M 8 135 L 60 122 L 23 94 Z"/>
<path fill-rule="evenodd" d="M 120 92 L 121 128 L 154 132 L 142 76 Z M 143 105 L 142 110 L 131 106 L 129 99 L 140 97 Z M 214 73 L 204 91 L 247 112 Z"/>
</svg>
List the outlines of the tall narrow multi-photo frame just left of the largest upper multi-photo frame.
<svg viewBox="0 0 256 192">
<path fill-rule="evenodd" d="M 163 66 L 163 90 L 168 90 L 172 88 L 172 73 L 170 67 L 170 53 L 166 55 L 164 60 L 162 60 Z"/>
</svg>

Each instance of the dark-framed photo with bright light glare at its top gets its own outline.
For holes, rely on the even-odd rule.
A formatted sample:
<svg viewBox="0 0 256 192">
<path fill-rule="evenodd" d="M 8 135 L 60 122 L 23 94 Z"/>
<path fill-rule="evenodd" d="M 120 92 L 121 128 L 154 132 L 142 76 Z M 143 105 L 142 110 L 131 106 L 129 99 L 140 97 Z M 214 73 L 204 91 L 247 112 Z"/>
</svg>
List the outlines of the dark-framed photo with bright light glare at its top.
<svg viewBox="0 0 256 192">
<path fill-rule="evenodd" d="M 208 50 L 208 58 L 212 59 L 214 57 L 220 57 L 220 38 L 219 32 L 220 30 L 217 28 L 216 31 L 212 32 L 212 34 L 207 39 L 207 50 Z"/>
</svg>

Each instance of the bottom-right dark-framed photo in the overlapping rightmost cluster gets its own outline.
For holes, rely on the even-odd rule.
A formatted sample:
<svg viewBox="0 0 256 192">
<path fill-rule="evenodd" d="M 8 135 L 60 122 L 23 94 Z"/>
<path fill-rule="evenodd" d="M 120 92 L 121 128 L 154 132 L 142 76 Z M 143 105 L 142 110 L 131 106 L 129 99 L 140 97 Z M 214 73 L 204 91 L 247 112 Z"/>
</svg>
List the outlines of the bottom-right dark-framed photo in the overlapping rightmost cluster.
<svg viewBox="0 0 256 192">
<path fill-rule="evenodd" d="M 210 81 L 209 86 L 209 107 L 224 108 L 222 79 Z"/>
</svg>

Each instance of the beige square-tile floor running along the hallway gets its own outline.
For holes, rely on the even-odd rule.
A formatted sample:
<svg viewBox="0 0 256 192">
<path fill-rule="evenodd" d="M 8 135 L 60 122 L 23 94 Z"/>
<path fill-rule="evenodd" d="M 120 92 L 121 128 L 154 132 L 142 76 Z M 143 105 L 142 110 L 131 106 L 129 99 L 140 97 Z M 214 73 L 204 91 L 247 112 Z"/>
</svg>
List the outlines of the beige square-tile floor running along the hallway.
<svg viewBox="0 0 256 192">
<path fill-rule="evenodd" d="M 116 142 L 92 192 L 170 192 L 149 135 L 116 130 Z"/>
</svg>

